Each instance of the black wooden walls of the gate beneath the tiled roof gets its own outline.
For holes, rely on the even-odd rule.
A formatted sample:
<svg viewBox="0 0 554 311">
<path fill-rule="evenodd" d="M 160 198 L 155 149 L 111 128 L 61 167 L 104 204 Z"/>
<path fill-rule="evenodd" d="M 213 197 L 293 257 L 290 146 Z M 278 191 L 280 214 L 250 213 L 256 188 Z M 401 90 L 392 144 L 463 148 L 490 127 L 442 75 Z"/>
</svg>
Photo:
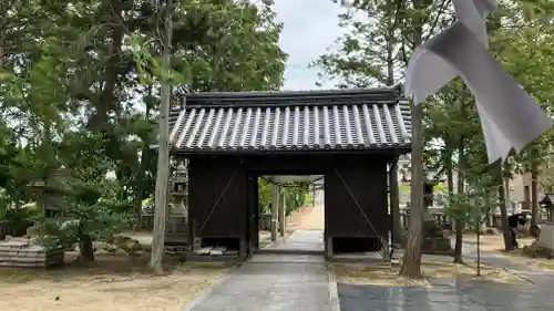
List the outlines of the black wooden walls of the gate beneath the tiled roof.
<svg viewBox="0 0 554 311">
<path fill-rule="evenodd" d="M 376 237 L 375 230 L 386 236 L 390 229 L 387 217 L 387 162 L 393 157 L 393 154 L 188 156 L 189 215 L 195 224 L 194 230 L 202 238 L 246 239 L 249 232 L 247 214 L 257 210 L 248 207 L 248 177 L 264 174 L 325 175 L 327 236 Z M 227 190 L 222 196 L 227 184 Z M 203 225 L 204 228 L 201 228 Z"/>
</svg>

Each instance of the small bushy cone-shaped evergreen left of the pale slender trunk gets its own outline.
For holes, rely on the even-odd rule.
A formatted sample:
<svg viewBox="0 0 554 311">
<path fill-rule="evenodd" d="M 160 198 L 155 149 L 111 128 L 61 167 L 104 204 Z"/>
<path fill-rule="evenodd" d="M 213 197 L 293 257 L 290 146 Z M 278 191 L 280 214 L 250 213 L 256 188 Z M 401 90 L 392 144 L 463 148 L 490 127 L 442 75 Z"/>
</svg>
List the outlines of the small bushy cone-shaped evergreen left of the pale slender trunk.
<svg viewBox="0 0 554 311">
<path fill-rule="evenodd" d="M 82 137 L 93 144 L 95 136 Z M 93 145 L 92 145 L 93 146 Z M 72 177 L 52 185 L 63 194 L 68 203 L 65 221 L 43 219 L 40 227 L 41 241 L 52 243 L 54 237 L 61 246 L 80 246 L 81 260 L 94 260 L 88 252 L 95 241 L 112 242 L 115 235 L 134 222 L 127 212 L 129 203 L 116 198 L 116 185 L 105 177 L 113 165 L 102 149 L 85 152 L 89 147 L 75 145 L 75 157 L 68 158 Z M 69 219 L 69 220 L 68 220 Z"/>
</svg>

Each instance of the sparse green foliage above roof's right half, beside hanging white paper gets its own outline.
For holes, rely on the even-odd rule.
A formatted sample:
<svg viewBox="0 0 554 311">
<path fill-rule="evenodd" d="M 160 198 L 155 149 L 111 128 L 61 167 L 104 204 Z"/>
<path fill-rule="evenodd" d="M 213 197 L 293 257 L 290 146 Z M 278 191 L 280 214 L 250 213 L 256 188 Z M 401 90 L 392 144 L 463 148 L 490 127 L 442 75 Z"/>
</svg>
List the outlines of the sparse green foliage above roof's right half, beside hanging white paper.
<svg viewBox="0 0 554 311">
<path fill-rule="evenodd" d="M 402 79 L 411 51 L 452 21 L 447 2 L 353 1 L 339 14 L 346 33 L 312 65 L 339 87 L 392 85 Z"/>
</svg>

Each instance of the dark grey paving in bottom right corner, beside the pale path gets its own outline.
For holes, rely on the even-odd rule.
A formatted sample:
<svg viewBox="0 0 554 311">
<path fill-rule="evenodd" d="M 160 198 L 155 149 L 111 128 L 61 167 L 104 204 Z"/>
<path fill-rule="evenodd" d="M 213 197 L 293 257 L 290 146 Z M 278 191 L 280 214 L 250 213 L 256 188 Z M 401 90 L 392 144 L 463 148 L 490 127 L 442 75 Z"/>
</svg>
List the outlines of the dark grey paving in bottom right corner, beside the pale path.
<svg viewBox="0 0 554 311">
<path fill-rule="evenodd" d="M 551 279 L 550 287 L 470 280 L 435 283 L 429 289 L 337 284 L 342 311 L 554 310 L 553 286 L 554 279 Z"/>
</svg>

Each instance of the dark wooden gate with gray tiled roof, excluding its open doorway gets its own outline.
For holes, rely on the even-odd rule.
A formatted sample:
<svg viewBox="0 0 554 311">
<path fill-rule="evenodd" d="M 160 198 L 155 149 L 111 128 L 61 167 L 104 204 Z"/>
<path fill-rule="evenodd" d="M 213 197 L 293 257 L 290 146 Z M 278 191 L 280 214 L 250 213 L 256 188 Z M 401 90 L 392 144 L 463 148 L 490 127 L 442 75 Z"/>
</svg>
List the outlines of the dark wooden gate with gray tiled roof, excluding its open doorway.
<svg viewBox="0 0 554 311">
<path fill-rule="evenodd" d="M 188 159 L 189 234 L 203 245 L 244 258 L 256 249 L 258 175 L 325 175 L 328 257 L 388 241 L 388 184 L 398 205 L 396 162 L 411 149 L 400 86 L 187 94 L 170 125 L 172 156 Z"/>
</svg>

